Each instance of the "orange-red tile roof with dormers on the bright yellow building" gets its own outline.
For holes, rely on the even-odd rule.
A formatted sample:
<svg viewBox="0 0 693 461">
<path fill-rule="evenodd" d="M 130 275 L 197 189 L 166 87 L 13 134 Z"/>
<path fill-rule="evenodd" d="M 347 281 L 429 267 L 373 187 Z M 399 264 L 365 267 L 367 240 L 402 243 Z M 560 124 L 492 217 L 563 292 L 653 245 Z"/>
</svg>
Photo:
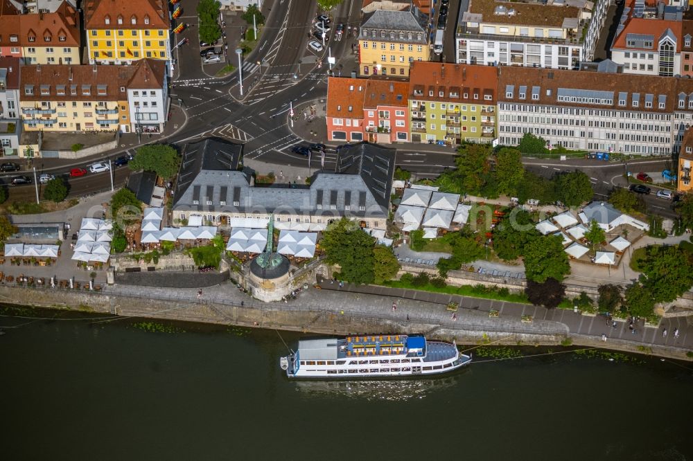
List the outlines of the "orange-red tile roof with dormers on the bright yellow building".
<svg viewBox="0 0 693 461">
<path fill-rule="evenodd" d="M 87 29 L 168 29 L 166 0 L 85 0 Z M 188 8 L 193 9 L 192 6 Z M 109 24 L 106 24 L 106 18 Z M 119 17 L 123 24 L 118 24 Z M 137 24 L 132 24 L 132 19 Z M 146 20 L 149 24 L 146 24 Z"/>
</svg>

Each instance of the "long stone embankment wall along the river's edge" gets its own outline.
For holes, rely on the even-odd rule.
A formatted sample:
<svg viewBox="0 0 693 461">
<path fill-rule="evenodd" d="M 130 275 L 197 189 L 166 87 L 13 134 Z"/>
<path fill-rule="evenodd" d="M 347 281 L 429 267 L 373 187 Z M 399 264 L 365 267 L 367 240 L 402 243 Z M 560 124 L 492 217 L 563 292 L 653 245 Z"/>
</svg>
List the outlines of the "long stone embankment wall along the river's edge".
<svg viewBox="0 0 693 461">
<path fill-rule="evenodd" d="M 457 341 L 460 344 L 494 345 L 558 345 L 566 337 L 565 332 L 545 332 L 544 334 L 509 329 L 489 332 L 473 325 L 459 325 L 450 329 L 438 324 L 410 321 L 407 323 L 372 315 L 350 315 L 328 309 L 301 309 L 286 307 L 283 303 L 265 304 L 261 307 L 240 307 L 219 305 L 214 302 L 175 302 L 152 298 L 138 298 L 113 293 L 94 293 L 89 291 L 67 291 L 60 289 L 28 289 L 24 287 L 0 286 L 0 299 L 3 302 L 47 307 L 52 309 L 71 309 L 76 311 L 98 312 L 124 317 L 143 317 L 164 320 L 179 320 L 220 325 L 285 329 L 304 333 L 319 334 L 378 334 L 380 332 L 424 333 L 431 339 Z M 467 328 L 467 329 L 465 329 Z M 535 331 L 539 331 L 536 329 Z M 574 345 L 609 347 L 626 352 L 647 353 L 687 360 L 685 351 L 675 347 L 648 345 L 638 348 L 626 341 L 611 341 L 607 345 L 592 336 L 572 335 Z"/>
</svg>

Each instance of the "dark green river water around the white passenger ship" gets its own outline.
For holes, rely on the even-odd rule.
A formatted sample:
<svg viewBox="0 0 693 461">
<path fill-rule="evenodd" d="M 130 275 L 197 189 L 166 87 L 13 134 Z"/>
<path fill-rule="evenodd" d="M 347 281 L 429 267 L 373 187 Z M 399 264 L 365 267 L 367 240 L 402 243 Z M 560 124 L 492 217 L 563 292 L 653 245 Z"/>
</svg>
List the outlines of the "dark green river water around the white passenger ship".
<svg viewBox="0 0 693 461">
<path fill-rule="evenodd" d="M 3 316 L 0 327 L 28 321 Z M 437 379 L 295 382 L 279 369 L 277 332 L 175 328 L 41 320 L 6 329 L 2 458 L 693 459 L 690 364 L 476 356 Z M 299 337 L 281 336 L 293 347 Z"/>
</svg>

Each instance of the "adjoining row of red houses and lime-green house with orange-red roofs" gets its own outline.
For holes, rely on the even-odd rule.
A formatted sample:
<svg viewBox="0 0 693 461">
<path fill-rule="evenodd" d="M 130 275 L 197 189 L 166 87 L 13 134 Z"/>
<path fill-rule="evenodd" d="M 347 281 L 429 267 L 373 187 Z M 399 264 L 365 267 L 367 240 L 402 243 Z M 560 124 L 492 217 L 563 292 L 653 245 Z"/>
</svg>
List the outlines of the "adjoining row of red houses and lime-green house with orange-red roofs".
<svg viewBox="0 0 693 461">
<path fill-rule="evenodd" d="M 329 141 L 491 143 L 496 69 L 412 62 L 409 80 L 330 78 Z"/>
</svg>

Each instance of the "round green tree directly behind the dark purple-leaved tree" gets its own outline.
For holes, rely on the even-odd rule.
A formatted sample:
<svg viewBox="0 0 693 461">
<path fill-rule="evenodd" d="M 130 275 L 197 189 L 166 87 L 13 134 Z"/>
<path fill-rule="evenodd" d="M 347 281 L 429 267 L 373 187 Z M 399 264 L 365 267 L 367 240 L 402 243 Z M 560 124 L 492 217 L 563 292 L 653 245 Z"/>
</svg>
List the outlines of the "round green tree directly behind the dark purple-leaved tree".
<svg viewBox="0 0 693 461">
<path fill-rule="evenodd" d="M 527 280 L 543 283 L 547 278 L 563 280 L 570 273 L 568 253 L 559 235 L 542 235 L 529 240 L 523 252 Z"/>
</svg>

